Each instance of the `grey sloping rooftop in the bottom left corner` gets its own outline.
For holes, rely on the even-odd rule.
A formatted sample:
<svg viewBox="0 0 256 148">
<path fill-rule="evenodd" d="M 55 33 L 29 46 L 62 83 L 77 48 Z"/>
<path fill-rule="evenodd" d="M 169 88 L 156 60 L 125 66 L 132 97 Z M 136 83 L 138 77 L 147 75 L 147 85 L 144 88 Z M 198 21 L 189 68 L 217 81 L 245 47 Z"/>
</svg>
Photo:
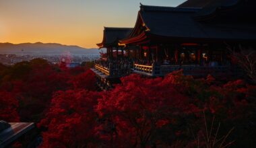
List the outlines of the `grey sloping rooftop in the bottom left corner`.
<svg viewBox="0 0 256 148">
<path fill-rule="evenodd" d="M 0 124 L 6 126 L 0 131 L 0 148 L 11 146 L 17 139 L 20 139 L 35 127 L 32 122 L 0 122 Z"/>
</svg>

